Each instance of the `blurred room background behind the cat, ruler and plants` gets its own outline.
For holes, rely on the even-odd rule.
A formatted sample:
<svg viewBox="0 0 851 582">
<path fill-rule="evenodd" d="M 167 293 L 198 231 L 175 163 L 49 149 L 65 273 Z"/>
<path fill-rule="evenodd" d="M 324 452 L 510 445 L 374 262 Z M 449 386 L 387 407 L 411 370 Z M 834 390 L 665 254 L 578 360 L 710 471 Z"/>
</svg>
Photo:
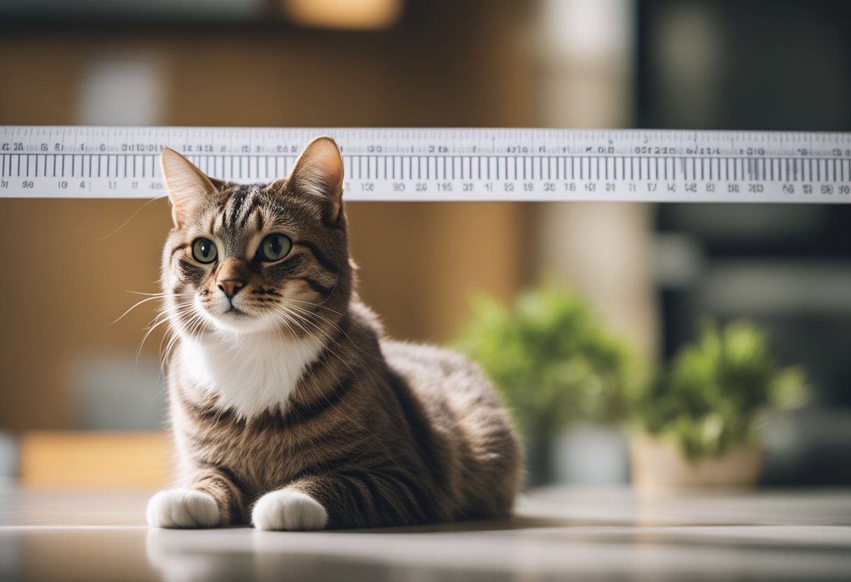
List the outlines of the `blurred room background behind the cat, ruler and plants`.
<svg viewBox="0 0 851 582">
<path fill-rule="evenodd" d="M 0 0 L 0 124 L 849 131 L 848 22 L 840 0 Z M 810 386 L 758 423 L 773 486 L 851 483 L 849 211 L 347 208 L 361 294 L 397 338 L 452 343 L 471 295 L 544 283 L 645 370 L 700 317 L 751 320 Z M 151 303 L 111 322 L 158 290 L 169 228 L 164 200 L 0 200 L 0 476 L 161 484 L 163 335 L 141 343 Z M 551 432 L 536 483 L 629 479 L 629 431 L 574 414 Z"/>
</svg>

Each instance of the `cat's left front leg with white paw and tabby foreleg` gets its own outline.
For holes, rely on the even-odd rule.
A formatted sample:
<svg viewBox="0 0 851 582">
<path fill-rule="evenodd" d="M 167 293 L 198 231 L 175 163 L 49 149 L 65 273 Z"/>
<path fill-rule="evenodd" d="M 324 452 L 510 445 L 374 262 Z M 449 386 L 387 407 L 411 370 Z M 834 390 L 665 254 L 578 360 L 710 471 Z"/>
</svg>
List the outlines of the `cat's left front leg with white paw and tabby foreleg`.
<svg viewBox="0 0 851 582">
<path fill-rule="evenodd" d="M 242 513 L 237 487 L 219 471 L 199 473 L 189 488 L 163 489 L 148 501 L 151 528 L 214 528 Z"/>
</svg>

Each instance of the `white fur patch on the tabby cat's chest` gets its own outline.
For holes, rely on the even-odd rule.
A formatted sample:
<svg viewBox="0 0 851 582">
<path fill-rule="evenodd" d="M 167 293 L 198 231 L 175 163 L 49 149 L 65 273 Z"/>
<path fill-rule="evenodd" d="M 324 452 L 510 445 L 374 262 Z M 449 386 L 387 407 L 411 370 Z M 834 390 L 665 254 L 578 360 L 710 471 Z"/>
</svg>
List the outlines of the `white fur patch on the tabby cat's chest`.
<svg viewBox="0 0 851 582">
<path fill-rule="evenodd" d="M 246 334 L 229 339 L 210 335 L 185 338 L 179 365 L 197 385 L 250 419 L 268 408 L 283 408 L 305 368 L 322 351 L 316 339 L 283 339 Z"/>
</svg>

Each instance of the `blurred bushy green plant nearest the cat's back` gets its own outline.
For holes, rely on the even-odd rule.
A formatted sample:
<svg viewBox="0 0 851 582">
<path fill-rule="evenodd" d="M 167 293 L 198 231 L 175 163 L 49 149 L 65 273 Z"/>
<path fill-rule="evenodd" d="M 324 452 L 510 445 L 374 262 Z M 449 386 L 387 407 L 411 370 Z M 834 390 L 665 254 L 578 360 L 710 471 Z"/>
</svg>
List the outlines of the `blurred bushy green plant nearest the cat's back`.
<svg viewBox="0 0 851 582">
<path fill-rule="evenodd" d="M 479 296 L 472 311 L 457 346 L 482 366 L 514 415 L 527 484 L 547 482 L 558 430 L 578 419 L 625 417 L 636 378 L 630 352 L 584 300 L 554 288 L 523 291 L 511 306 Z"/>
</svg>

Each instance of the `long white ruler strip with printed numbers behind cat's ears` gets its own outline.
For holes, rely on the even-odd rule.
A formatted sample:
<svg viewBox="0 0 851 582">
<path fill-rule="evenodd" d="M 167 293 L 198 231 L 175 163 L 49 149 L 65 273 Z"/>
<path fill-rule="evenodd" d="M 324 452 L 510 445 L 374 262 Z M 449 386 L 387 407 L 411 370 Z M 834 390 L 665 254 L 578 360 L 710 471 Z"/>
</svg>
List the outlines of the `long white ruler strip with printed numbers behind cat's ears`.
<svg viewBox="0 0 851 582">
<path fill-rule="evenodd" d="M 347 200 L 851 202 L 851 134 L 495 128 L 0 127 L 0 197 L 150 198 L 159 151 L 214 178 L 286 176 L 317 135 Z"/>
</svg>

